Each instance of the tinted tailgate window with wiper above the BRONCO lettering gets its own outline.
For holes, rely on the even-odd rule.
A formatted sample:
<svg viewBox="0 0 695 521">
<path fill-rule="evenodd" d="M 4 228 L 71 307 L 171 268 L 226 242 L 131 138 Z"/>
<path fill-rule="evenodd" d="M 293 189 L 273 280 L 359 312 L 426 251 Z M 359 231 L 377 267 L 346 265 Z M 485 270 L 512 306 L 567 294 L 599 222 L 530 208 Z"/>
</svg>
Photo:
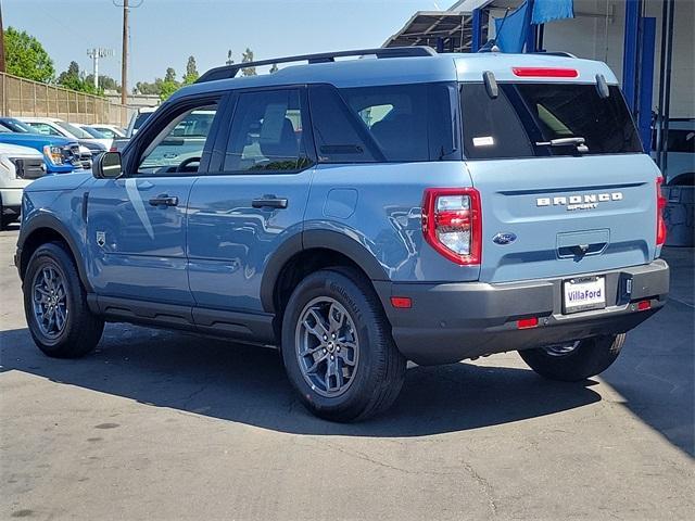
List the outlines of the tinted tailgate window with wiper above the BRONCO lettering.
<svg viewBox="0 0 695 521">
<path fill-rule="evenodd" d="M 482 82 L 462 85 L 466 157 L 576 155 L 577 147 L 548 143 L 583 138 L 582 155 L 640 153 L 637 130 L 617 86 L 601 98 L 591 84 L 500 84 L 498 97 Z"/>
</svg>

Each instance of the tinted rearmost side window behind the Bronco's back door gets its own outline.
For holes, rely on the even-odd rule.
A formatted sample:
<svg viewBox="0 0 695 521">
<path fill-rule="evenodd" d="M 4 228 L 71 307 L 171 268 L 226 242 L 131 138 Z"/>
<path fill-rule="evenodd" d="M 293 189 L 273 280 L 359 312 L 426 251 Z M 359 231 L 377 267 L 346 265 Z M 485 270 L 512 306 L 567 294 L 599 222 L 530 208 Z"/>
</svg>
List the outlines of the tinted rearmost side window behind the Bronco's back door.
<svg viewBox="0 0 695 521">
<path fill-rule="evenodd" d="M 312 89 L 321 163 L 460 158 L 453 84 Z"/>
</svg>

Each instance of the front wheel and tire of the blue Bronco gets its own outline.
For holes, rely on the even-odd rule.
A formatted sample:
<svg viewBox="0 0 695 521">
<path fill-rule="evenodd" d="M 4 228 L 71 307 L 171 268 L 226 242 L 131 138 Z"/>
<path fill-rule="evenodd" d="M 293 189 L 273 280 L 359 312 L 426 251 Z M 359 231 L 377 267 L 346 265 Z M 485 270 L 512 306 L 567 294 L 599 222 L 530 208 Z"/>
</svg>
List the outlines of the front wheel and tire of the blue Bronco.
<svg viewBox="0 0 695 521">
<path fill-rule="evenodd" d="M 87 305 L 87 292 L 61 243 L 39 246 L 24 276 L 24 313 L 34 342 L 48 356 L 77 358 L 99 343 L 104 321 Z"/>
</svg>

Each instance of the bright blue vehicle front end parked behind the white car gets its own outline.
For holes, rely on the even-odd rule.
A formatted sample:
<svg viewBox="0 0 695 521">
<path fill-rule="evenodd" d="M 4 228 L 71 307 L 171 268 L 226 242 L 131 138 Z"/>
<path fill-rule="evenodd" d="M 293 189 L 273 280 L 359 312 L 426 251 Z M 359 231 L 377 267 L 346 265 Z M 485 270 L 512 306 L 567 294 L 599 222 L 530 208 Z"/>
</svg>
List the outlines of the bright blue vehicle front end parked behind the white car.
<svg viewBox="0 0 695 521">
<path fill-rule="evenodd" d="M 77 141 L 35 134 L 31 127 L 13 117 L 0 117 L 0 143 L 38 150 L 49 174 L 67 174 L 84 167 Z"/>
</svg>

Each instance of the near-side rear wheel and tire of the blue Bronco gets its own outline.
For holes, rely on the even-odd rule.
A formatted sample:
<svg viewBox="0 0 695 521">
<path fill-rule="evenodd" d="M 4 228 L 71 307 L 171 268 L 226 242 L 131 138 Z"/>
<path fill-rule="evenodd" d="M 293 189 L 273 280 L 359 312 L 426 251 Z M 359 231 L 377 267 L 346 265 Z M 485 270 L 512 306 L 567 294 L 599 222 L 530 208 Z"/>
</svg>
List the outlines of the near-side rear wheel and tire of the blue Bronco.
<svg viewBox="0 0 695 521">
<path fill-rule="evenodd" d="M 351 268 L 317 271 L 296 287 L 282 321 L 282 361 L 303 404 L 341 422 L 388 409 L 406 368 L 379 298 Z"/>
</svg>

